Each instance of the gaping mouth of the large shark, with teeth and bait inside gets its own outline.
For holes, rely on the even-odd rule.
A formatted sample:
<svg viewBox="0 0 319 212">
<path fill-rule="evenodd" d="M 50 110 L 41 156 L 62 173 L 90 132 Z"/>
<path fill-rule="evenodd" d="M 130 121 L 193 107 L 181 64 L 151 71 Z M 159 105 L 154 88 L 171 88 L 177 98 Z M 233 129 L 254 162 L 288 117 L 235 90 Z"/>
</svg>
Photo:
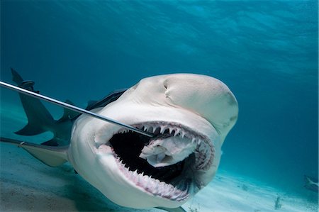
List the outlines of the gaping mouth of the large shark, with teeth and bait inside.
<svg viewBox="0 0 319 212">
<path fill-rule="evenodd" d="M 171 201 L 185 201 L 205 186 L 200 178 L 213 164 L 215 150 L 211 140 L 178 123 L 147 122 L 133 126 L 153 133 L 155 138 L 119 130 L 106 144 L 112 147 L 118 167 L 128 181 L 153 196 Z M 173 144 L 175 151 L 160 146 L 171 139 L 174 141 L 169 145 Z M 145 160 L 143 152 L 150 148 L 154 149 L 144 155 Z M 171 155 L 169 151 L 178 153 Z"/>
</svg>

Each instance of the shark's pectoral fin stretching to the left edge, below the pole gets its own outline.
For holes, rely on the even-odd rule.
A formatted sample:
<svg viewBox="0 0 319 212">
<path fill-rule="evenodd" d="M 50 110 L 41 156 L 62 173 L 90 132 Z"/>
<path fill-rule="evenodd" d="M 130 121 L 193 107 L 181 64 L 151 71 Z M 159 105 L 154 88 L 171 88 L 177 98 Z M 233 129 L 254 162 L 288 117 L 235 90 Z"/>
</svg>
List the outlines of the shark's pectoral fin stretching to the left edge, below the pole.
<svg viewBox="0 0 319 212">
<path fill-rule="evenodd" d="M 67 148 L 65 147 L 52 147 L 45 145 L 38 145 L 34 143 L 22 142 L 11 138 L 0 138 L 3 143 L 10 143 L 18 147 L 22 147 L 29 152 L 33 157 L 37 158 L 44 164 L 50 167 L 58 167 L 67 162 Z"/>
</svg>

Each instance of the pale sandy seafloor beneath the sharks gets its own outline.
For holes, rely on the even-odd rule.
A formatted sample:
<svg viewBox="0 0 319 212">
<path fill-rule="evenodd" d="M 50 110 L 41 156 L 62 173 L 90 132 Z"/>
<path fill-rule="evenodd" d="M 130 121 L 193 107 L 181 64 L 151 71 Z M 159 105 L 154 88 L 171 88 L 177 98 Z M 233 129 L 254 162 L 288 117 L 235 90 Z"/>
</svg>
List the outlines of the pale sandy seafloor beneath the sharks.
<svg viewBox="0 0 319 212">
<path fill-rule="evenodd" d="M 1 103 L 1 136 L 26 140 L 11 133 L 26 122 L 23 113 L 14 112 L 18 111 L 15 107 Z M 48 136 L 38 135 L 28 141 L 47 140 Z M 28 152 L 7 144 L 0 144 L 0 151 L 0 211 L 161 211 L 122 208 L 111 203 L 75 174 L 70 164 L 47 167 Z M 275 209 L 278 196 L 281 208 Z M 311 191 L 308 199 L 301 199 L 254 179 L 218 170 L 213 181 L 183 208 L 186 211 L 318 211 L 314 198 L 316 195 Z"/>
</svg>

